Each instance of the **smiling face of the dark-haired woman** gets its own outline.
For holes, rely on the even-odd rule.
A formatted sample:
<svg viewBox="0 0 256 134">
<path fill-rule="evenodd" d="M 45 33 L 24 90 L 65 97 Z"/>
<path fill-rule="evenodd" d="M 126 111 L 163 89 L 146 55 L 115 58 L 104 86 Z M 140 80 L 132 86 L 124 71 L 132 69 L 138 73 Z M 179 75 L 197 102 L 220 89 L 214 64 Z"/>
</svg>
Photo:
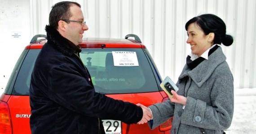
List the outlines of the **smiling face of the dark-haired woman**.
<svg viewBox="0 0 256 134">
<path fill-rule="evenodd" d="M 198 25 L 191 23 L 187 30 L 187 43 L 190 44 L 192 53 L 201 56 L 203 52 L 209 49 L 213 44 L 214 35 L 212 37 L 212 34 L 204 35 L 203 30 Z"/>
</svg>

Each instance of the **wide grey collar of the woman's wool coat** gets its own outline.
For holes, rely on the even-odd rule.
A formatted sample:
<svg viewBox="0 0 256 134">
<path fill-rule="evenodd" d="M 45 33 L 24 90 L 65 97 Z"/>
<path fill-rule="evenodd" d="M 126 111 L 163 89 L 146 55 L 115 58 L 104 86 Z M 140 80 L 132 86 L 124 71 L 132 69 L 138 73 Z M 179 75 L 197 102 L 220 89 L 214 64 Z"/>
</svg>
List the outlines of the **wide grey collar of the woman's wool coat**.
<svg viewBox="0 0 256 134">
<path fill-rule="evenodd" d="M 181 75 L 179 77 L 179 82 L 185 76 L 189 75 L 190 78 L 201 87 L 203 83 L 208 80 L 208 78 L 212 75 L 213 71 L 218 67 L 221 63 L 225 62 L 226 57 L 222 52 L 221 47 L 218 47 L 215 52 L 213 52 L 208 60 L 204 60 L 193 70 L 190 70 L 187 65 L 183 68 Z"/>
</svg>

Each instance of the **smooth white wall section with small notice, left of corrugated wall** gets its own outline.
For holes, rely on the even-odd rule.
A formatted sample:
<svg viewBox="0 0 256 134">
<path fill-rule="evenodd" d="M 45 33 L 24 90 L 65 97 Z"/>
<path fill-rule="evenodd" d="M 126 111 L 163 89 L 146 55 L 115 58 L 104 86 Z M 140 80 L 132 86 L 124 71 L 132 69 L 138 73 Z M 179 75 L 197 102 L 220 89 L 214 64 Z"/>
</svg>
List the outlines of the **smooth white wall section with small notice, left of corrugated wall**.
<svg viewBox="0 0 256 134">
<path fill-rule="evenodd" d="M 0 0 L 0 90 L 31 39 L 29 0 Z"/>
</svg>

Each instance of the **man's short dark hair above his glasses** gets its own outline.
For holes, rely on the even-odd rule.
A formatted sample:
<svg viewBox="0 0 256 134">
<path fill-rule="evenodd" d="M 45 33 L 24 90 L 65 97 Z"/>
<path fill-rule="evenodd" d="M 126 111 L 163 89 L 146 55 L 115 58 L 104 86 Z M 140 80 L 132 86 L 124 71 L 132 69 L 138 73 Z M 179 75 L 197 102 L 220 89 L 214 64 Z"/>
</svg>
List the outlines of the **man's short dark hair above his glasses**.
<svg viewBox="0 0 256 134">
<path fill-rule="evenodd" d="M 70 7 L 72 4 L 75 4 L 81 8 L 80 4 L 71 1 L 62 1 L 54 4 L 49 14 L 49 25 L 54 29 L 57 29 L 58 22 L 60 20 L 68 20 L 72 16 L 70 12 Z"/>
</svg>

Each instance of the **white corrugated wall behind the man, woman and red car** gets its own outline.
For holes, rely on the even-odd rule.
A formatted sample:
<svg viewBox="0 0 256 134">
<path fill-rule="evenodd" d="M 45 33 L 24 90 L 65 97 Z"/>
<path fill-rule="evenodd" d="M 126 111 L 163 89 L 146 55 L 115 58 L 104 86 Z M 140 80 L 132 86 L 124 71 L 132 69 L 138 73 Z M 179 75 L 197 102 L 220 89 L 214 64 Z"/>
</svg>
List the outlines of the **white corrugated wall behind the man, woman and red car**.
<svg viewBox="0 0 256 134">
<path fill-rule="evenodd" d="M 23 38 L 28 37 L 26 44 L 32 35 L 45 34 L 44 27 L 48 24 L 51 6 L 61 0 L 19 1 L 21 0 L 10 0 L 10 2 L 1 0 L 0 5 L 9 7 L 9 9 L 4 8 L 9 12 L 6 16 L 10 22 L 17 19 L 13 18 L 15 15 L 19 18 L 27 18 L 27 24 L 31 22 L 30 26 L 26 23 L 23 24 L 25 27 L 27 26 L 25 29 L 21 28 L 21 25 L 17 28 L 22 33 L 28 31 L 28 34 L 23 34 Z M 232 46 L 222 48 L 234 75 L 235 88 L 256 87 L 256 0 L 72 1 L 76 1 L 82 6 L 89 27 L 84 34 L 85 37 L 124 38 L 126 34 L 137 34 L 142 43 L 150 50 L 162 77 L 168 75 L 174 81 L 177 81 L 185 64 L 185 58 L 190 53 L 190 46 L 186 44 L 186 21 L 202 13 L 216 14 L 225 21 L 227 33 L 234 37 Z M 17 3 L 20 3 L 17 9 L 19 12 L 11 13 L 10 10 L 15 8 L 13 4 Z M 29 11 L 31 12 L 27 13 Z M 0 14 L 2 16 L 2 12 Z M 30 17 L 27 16 L 28 14 Z M 2 17 L 0 17 L 1 27 L 11 27 L 10 24 L 2 21 Z M 6 31 L 9 32 L 10 29 L 8 28 Z M 5 36 L 10 37 L 6 34 Z M 12 42 L 14 40 L 12 39 Z M 12 46 L 23 46 L 23 44 Z M 0 47 L 2 48 L 2 46 L 1 44 Z M 5 53 L 6 50 L 5 45 Z M 2 58 L 1 56 L 1 61 L 3 60 L 3 63 L 6 64 L 7 61 Z M 11 68 L 12 65 L 9 64 L 7 67 Z M 5 71 L 3 72 L 8 75 Z"/>
</svg>

